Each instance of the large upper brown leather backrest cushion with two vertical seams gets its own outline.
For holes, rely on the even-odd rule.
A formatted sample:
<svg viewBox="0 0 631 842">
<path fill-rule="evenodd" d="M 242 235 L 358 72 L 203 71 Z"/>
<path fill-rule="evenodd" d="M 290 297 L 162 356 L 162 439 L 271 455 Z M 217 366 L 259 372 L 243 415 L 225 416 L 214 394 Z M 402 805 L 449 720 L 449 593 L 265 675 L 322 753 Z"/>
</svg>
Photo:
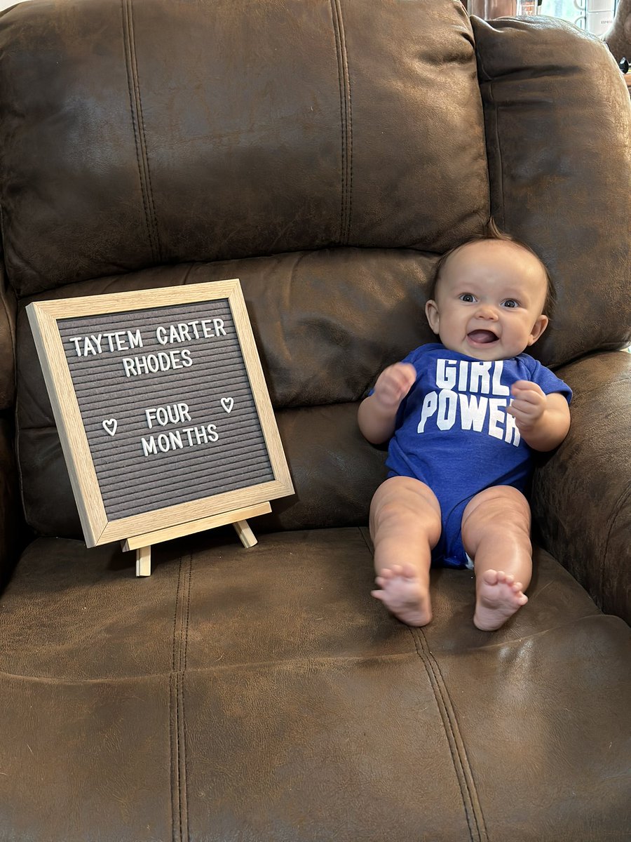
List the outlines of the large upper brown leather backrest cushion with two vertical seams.
<svg viewBox="0 0 631 842">
<path fill-rule="evenodd" d="M 332 245 L 442 253 L 489 215 L 460 3 L 19 4 L 0 114 L 19 296 Z"/>
</svg>

